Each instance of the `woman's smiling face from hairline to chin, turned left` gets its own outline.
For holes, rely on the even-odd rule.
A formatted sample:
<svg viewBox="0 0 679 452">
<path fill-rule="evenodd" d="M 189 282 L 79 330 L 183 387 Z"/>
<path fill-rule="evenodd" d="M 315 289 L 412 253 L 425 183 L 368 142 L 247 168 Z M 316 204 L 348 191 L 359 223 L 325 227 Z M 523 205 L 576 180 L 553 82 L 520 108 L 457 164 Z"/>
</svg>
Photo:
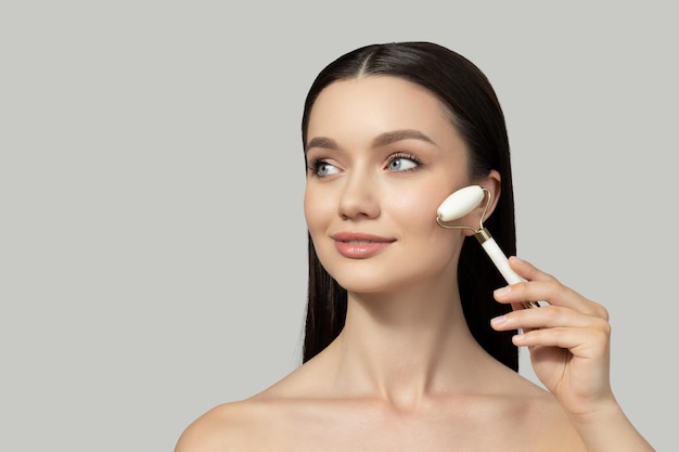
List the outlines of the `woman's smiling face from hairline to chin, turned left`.
<svg viewBox="0 0 679 452">
<path fill-rule="evenodd" d="M 470 180 L 440 102 L 397 77 L 337 81 L 307 137 L 305 216 L 325 270 L 349 292 L 450 286 L 463 235 L 439 228 L 436 209 Z"/>
</svg>

